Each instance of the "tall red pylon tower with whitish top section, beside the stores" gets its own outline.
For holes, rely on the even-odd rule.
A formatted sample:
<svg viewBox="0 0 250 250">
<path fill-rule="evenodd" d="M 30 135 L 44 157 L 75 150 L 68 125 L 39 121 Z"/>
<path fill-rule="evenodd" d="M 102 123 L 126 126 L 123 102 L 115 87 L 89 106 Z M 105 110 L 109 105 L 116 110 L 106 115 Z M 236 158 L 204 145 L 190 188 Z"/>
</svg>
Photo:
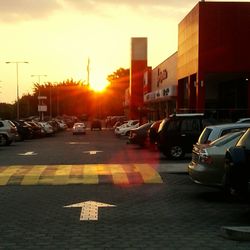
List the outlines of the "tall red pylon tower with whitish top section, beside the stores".
<svg viewBox="0 0 250 250">
<path fill-rule="evenodd" d="M 129 118 L 140 118 L 143 106 L 143 74 L 147 68 L 147 38 L 133 37 L 131 39 L 131 62 L 129 83 Z"/>
</svg>

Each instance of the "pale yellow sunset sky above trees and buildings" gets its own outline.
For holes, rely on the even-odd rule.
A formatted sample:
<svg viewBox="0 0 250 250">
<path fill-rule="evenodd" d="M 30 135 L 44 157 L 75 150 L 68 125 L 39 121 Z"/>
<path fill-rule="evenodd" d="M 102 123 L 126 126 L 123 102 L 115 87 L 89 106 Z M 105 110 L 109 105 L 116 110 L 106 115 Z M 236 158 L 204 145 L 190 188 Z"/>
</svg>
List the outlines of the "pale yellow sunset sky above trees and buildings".
<svg viewBox="0 0 250 250">
<path fill-rule="evenodd" d="M 148 38 L 148 64 L 177 51 L 178 23 L 196 0 L 0 0 L 0 102 L 32 93 L 34 82 L 86 80 L 103 85 L 107 75 L 130 66 L 131 37 Z M 246 1 L 247 2 L 247 1 Z"/>
</svg>

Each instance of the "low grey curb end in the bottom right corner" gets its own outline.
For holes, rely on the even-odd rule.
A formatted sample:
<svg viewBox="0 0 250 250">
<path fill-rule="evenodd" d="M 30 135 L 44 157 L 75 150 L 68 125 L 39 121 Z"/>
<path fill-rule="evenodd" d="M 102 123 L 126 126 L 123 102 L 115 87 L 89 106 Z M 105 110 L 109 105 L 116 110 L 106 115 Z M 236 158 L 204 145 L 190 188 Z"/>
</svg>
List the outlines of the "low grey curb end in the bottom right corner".
<svg viewBox="0 0 250 250">
<path fill-rule="evenodd" d="M 221 227 L 222 236 L 230 240 L 250 241 L 250 227 Z"/>
</svg>

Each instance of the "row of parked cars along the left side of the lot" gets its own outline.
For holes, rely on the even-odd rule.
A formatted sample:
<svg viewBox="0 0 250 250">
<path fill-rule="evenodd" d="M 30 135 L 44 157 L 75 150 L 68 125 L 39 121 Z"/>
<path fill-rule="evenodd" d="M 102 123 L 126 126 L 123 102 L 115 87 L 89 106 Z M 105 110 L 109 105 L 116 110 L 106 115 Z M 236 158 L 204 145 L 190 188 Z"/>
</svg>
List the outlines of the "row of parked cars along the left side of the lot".
<svg viewBox="0 0 250 250">
<path fill-rule="evenodd" d="M 8 146 L 14 141 L 23 141 L 54 135 L 67 129 L 62 120 L 0 120 L 0 145 Z"/>
</svg>

